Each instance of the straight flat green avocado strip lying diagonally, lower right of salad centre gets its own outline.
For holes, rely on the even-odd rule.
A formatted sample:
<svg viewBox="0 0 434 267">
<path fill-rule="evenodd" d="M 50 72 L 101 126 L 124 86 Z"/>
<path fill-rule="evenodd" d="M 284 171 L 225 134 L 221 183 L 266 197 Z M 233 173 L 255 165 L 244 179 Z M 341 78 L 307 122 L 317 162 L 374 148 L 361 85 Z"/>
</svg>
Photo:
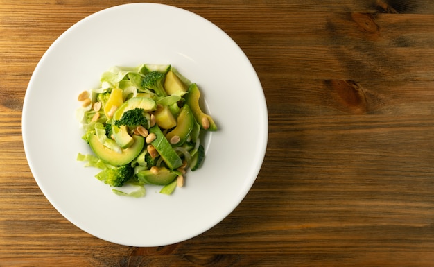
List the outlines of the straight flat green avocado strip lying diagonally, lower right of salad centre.
<svg viewBox="0 0 434 267">
<path fill-rule="evenodd" d="M 179 168 L 182 165 L 182 160 L 180 156 L 177 155 L 175 150 L 173 150 L 171 144 L 167 141 L 162 130 L 160 130 L 157 125 L 155 125 L 149 128 L 149 132 L 155 133 L 157 138 L 155 138 L 155 140 L 152 141 L 150 144 L 155 147 L 155 150 L 157 150 L 166 165 L 172 170 Z"/>
</svg>

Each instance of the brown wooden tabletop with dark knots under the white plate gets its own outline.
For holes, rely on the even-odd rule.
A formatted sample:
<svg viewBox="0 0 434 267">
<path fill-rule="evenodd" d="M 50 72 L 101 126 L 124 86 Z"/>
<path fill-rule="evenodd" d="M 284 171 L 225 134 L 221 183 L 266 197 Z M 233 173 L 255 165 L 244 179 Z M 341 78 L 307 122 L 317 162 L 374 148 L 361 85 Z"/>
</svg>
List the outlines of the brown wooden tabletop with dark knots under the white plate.
<svg viewBox="0 0 434 267">
<path fill-rule="evenodd" d="M 24 155 L 24 94 L 62 32 L 121 3 L 0 0 L 0 266 L 434 266 L 431 1 L 161 1 L 222 28 L 257 70 L 258 178 L 171 246 L 119 246 L 63 218 Z"/>
</svg>

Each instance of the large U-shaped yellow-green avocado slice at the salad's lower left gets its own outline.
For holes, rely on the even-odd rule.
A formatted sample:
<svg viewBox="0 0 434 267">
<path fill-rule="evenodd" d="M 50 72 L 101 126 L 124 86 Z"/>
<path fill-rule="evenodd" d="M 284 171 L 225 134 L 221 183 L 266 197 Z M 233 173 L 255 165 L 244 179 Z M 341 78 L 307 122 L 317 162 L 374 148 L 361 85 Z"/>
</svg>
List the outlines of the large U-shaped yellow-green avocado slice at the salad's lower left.
<svg viewBox="0 0 434 267">
<path fill-rule="evenodd" d="M 132 162 L 144 148 L 144 137 L 133 135 L 132 139 L 134 139 L 134 144 L 129 148 L 122 149 L 122 153 L 116 153 L 114 150 L 105 147 L 101 144 L 96 135 L 89 136 L 87 141 L 89 141 L 89 146 L 92 148 L 92 151 L 94 151 L 95 155 L 101 160 L 113 166 L 121 166 Z"/>
</svg>

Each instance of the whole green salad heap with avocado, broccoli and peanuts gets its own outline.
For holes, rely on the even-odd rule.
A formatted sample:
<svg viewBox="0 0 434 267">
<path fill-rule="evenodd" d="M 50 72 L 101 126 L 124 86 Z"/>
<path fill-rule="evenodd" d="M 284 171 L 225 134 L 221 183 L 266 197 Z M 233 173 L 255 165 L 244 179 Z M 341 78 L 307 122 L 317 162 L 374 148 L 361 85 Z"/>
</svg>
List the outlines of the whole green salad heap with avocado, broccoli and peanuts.
<svg viewBox="0 0 434 267">
<path fill-rule="evenodd" d="M 146 184 L 168 195 L 182 187 L 205 160 L 201 133 L 217 130 L 196 83 L 171 65 L 142 64 L 112 67 L 100 85 L 78 96 L 82 138 L 93 153 L 77 160 L 101 169 L 95 177 L 122 196 L 145 196 Z"/>
</svg>

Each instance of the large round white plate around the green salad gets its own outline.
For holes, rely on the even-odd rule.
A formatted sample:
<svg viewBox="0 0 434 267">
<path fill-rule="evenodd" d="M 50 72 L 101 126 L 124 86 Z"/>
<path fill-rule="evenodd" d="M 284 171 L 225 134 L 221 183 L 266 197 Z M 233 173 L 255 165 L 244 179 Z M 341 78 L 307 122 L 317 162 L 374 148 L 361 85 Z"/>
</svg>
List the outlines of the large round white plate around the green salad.
<svg viewBox="0 0 434 267">
<path fill-rule="evenodd" d="M 172 64 L 197 83 L 218 132 L 206 138 L 202 168 L 173 195 L 147 187 L 144 198 L 112 193 L 77 162 L 90 153 L 76 121 L 77 96 L 114 65 Z M 65 218 L 100 239 L 164 246 L 214 227 L 257 178 L 268 139 L 259 78 L 237 44 L 192 12 L 155 3 L 107 8 L 79 21 L 46 51 L 28 85 L 23 139 L 40 189 Z"/>
</svg>

